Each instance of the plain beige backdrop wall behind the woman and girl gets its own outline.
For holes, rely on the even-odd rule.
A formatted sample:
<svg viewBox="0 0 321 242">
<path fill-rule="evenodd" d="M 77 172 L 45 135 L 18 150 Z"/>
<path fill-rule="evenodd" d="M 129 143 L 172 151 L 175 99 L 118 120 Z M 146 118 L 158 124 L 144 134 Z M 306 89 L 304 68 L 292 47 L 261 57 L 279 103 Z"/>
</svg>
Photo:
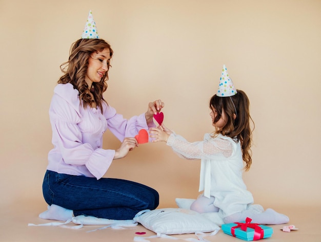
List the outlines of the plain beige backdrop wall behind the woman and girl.
<svg viewBox="0 0 321 242">
<path fill-rule="evenodd" d="M 45 202 L 48 109 L 59 65 L 89 10 L 114 50 L 105 97 L 126 118 L 165 102 L 164 123 L 189 141 L 212 130 L 208 101 L 226 64 L 255 122 L 244 179 L 255 203 L 321 202 L 321 1 L 0 0 L 1 205 Z M 105 148 L 117 148 L 111 133 Z M 160 207 L 198 195 L 199 161 L 143 144 L 105 177 L 154 187 Z"/>
</svg>

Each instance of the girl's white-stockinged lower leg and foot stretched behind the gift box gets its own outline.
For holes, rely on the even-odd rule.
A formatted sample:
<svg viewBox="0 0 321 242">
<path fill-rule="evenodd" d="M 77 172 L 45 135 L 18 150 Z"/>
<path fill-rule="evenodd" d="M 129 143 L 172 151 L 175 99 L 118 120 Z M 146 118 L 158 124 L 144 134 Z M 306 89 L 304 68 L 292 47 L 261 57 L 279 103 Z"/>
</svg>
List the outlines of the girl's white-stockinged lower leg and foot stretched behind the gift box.
<svg viewBox="0 0 321 242">
<path fill-rule="evenodd" d="M 244 210 L 243 212 L 234 213 L 225 217 L 224 223 L 229 224 L 234 222 L 243 222 L 247 217 L 252 218 L 251 223 L 255 224 L 277 225 L 286 224 L 289 222 L 288 216 L 268 208 L 262 213 L 257 213 L 253 210 Z"/>
</svg>

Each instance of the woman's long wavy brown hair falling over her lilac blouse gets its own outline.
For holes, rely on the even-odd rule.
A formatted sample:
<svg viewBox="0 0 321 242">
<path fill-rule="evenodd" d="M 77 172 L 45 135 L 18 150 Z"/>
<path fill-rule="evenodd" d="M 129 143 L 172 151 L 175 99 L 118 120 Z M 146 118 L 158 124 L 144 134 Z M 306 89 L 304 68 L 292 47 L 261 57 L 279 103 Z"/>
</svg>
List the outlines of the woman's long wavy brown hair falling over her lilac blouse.
<svg viewBox="0 0 321 242">
<path fill-rule="evenodd" d="M 58 80 L 58 83 L 71 83 L 74 89 L 79 92 L 79 99 L 83 100 L 83 105 L 86 108 L 91 104 L 91 95 L 94 96 L 97 106 L 103 111 L 102 102 L 106 102 L 103 93 L 107 90 L 108 70 L 111 67 L 109 61 L 107 63 L 108 70 L 102 77 L 100 82 L 93 82 L 92 89 L 88 89 L 88 84 L 85 81 L 85 76 L 88 68 L 88 59 L 92 53 L 109 49 L 110 58 L 113 55 L 109 43 L 103 39 L 78 39 L 70 48 L 68 61 L 61 64 L 60 69 L 64 75 Z M 107 102 L 106 102 L 107 103 Z"/>
</svg>

